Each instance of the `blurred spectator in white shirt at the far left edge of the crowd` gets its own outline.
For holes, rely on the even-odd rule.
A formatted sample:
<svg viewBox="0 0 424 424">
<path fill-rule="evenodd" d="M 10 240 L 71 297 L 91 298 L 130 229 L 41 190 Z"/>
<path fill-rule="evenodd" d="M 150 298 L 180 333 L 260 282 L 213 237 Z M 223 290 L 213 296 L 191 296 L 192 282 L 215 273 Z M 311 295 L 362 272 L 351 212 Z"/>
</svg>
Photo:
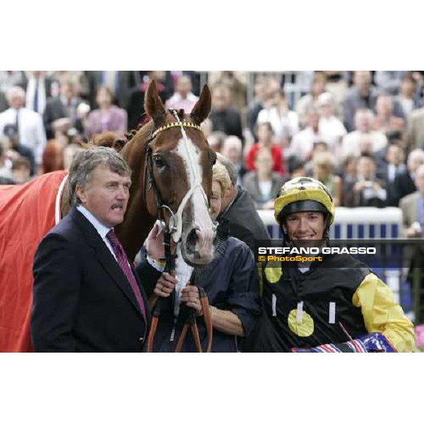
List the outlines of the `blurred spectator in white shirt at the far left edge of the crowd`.
<svg viewBox="0 0 424 424">
<path fill-rule="evenodd" d="M 12 87 L 6 93 L 9 108 L 0 113 L 0 134 L 4 135 L 7 125 L 14 124 L 19 144 L 29 148 L 35 158 L 35 164 L 41 165 L 42 152 L 46 144 L 45 128 L 42 117 L 37 112 L 24 107 L 25 91 Z"/>
</svg>

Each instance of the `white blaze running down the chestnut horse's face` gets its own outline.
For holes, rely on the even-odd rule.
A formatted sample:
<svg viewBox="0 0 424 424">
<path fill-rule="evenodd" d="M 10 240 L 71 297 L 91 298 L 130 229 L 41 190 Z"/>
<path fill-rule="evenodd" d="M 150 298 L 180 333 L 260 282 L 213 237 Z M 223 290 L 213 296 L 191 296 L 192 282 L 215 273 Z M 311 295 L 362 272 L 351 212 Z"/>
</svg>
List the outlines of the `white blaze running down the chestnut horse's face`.
<svg viewBox="0 0 424 424">
<path fill-rule="evenodd" d="M 197 182 L 202 180 L 202 169 L 200 164 L 200 151 L 192 140 L 187 139 L 187 143 L 184 137 L 179 140 L 176 153 L 182 158 L 185 170 L 187 173 L 187 182 L 189 183 L 189 189 L 192 189 Z M 206 249 L 211 249 L 213 242 L 213 230 L 212 220 L 208 211 L 208 203 L 206 194 L 203 188 L 200 186 L 196 188 L 189 199 L 192 206 L 192 220 L 193 226 L 198 228 L 201 232 L 199 253 L 207 253 Z"/>
</svg>

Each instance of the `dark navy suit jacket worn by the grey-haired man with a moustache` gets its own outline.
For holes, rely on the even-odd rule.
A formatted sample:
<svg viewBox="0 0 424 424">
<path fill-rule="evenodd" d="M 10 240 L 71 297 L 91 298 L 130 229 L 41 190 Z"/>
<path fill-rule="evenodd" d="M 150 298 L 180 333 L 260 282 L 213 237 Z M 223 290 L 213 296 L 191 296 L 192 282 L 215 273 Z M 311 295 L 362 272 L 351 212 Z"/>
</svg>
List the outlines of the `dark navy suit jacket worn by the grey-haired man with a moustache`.
<svg viewBox="0 0 424 424">
<path fill-rule="evenodd" d="M 35 253 L 31 337 L 38 352 L 139 352 L 147 322 L 122 269 L 72 208 Z M 160 273 L 151 268 L 158 278 Z"/>
</svg>

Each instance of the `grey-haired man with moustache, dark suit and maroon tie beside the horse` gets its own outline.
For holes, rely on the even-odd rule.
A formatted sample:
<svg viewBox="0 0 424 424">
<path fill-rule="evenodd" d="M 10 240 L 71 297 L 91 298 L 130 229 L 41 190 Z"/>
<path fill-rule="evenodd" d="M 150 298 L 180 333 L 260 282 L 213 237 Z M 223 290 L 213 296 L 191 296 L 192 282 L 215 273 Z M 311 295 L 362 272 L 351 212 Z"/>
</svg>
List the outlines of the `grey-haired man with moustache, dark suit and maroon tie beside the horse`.
<svg viewBox="0 0 424 424">
<path fill-rule="evenodd" d="M 35 351 L 142 350 L 150 322 L 148 302 L 113 231 L 124 220 L 130 175 L 112 148 L 87 148 L 74 158 L 71 210 L 35 253 Z M 153 266 L 143 275 L 149 273 L 160 276 Z"/>
</svg>

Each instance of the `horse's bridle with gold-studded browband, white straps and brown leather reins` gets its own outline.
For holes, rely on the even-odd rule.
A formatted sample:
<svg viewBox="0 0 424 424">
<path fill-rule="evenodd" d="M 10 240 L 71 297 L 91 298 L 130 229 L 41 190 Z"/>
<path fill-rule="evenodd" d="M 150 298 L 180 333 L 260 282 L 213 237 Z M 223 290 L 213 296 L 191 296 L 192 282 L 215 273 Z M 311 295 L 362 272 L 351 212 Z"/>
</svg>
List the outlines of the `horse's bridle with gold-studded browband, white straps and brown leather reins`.
<svg viewBox="0 0 424 424">
<path fill-rule="evenodd" d="M 146 166 L 144 168 L 144 189 L 143 189 L 143 201 L 144 204 L 146 203 L 146 180 L 148 177 L 148 190 L 153 190 L 153 195 L 155 197 L 155 203 L 156 207 L 158 208 L 158 217 L 163 223 L 165 223 L 165 229 L 163 234 L 163 245 L 165 247 L 165 269 L 164 272 L 170 273 L 175 269 L 175 258 L 176 256 L 172 254 L 171 251 L 171 237 L 174 240 L 175 243 L 179 242 L 182 235 L 182 211 L 184 210 L 184 207 L 187 204 L 187 201 L 192 197 L 194 191 L 196 189 L 200 189 L 201 193 L 204 196 L 204 199 L 206 200 L 206 203 L 208 203 L 208 199 L 206 196 L 206 193 L 204 191 L 204 188 L 201 184 L 201 177 L 199 175 L 199 172 L 196 169 L 196 166 L 194 166 L 194 158 L 192 157 L 191 149 L 189 148 L 189 139 L 187 138 L 187 134 L 185 132 L 184 128 L 193 128 L 198 131 L 201 131 L 201 127 L 199 125 L 194 124 L 193 122 L 189 121 L 181 121 L 178 116 L 177 110 L 170 110 L 170 112 L 175 116 L 177 119 L 176 122 L 171 122 L 170 124 L 165 124 L 163 126 L 160 126 L 158 129 L 152 129 L 151 135 L 148 138 L 148 141 L 146 143 Z M 192 167 L 192 172 L 194 175 L 194 184 L 193 186 L 188 190 L 188 192 L 184 195 L 181 203 L 178 206 L 177 212 L 173 213 L 170 206 L 165 204 L 165 202 L 162 199 L 162 196 L 160 195 L 160 192 L 158 188 L 155 185 L 155 179 L 153 178 L 153 155 L 152 155 L 152 148 L 151 148 L 151 142 L 155 139 L 158 134 L 160 134 L 163 131 L 167 131 L 167 129 L 173 129 L 173 128 L 179 128 L 181 129 L 184 145 L 187 149 L 188 157 L 189 157 L 189 166 Z M 167 211 L 170 213 L 170 218 L 168 218 L 168 222 L 166 223 L 165 220 L 165 214 L 164 211 Z M 192 281 L 193 283 L 193 281 Z M 207 346 L 206 346 L 206 352 L 211 352 L 211 346 L 212 346 L 212 319 L 211 319 L 211 311 L 209 309 L 208 304 L 208 298 L 206 296 L 206 293 L 203 288 L 198 287 L 199 289 L 199 300 L 201 302 L 202 306 L 202 312 L 204 316 L 204 322 L 206 324 L 206 334 L 207 334 Z M 157 295 L 152 295 L 151 300 L 149 301 L 151 307 L 153 307 L 153 318 L 151 323 L 151 330 L 148 335 L 148 342 L 147 342 L 147 351 L 153 352 L 153 340 L 155 338 L 156 329 L 158 327 L 158 321 L 160 317 L 160 311 L 162 309 L 162 303 L 165 302 L 166 298 L 158 298 Z M 192 334 L 194 338 L 194 343 L 196 345 L 196 349 L 198 352 L 201 352 L 201 342 L 199 337 L 199 329 L 197 328 L 196 324 L 196 312 L 192 308 L 188 308 L 189 311 L 187 311 L 186 315 L 186 321 L 184 323 L 184 327 L 182 329 L 182 332 L 179 336 L 177 347 L 175 349 L 175 352 L 180 352 L 182 349 L 182 345 L 184 344 L 184 339 L 187 336 L 188 327 L 192 329 Z"/>
</svg>

